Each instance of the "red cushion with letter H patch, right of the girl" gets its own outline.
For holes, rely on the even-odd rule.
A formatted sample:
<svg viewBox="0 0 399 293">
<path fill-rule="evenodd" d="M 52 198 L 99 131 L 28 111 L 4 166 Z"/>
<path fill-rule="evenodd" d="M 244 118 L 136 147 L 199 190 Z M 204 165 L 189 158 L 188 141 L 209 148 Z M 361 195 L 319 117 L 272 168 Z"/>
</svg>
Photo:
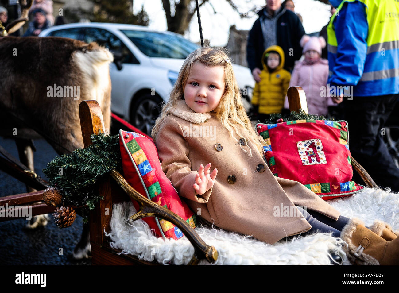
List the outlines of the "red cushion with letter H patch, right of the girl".
<svg viewBox="0 0 399 293">
<path fill-rule="evenodd" d="M 265 157 L 273 175 L 298 181 L 326 200 L 364 187 L 352 181 L 347 124 L 296 120 L 256 128 L 268 145 Z"/>
</svg>

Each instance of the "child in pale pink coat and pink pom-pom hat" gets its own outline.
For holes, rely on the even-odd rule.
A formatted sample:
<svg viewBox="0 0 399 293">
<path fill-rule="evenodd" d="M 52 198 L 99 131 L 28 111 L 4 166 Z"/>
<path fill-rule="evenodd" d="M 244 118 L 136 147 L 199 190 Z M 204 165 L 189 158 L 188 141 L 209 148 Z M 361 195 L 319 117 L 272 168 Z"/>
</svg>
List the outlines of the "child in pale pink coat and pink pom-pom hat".
<svg viewBox="0 0 399 293">
<path fill-rule="evenodd" d="M 326 116 L 329 106 L 336 106 L 330 97 L 326 97 L 328 79 L 328 60 L 322 59 L 322 48 L 326 41 L 322 37 L 304 35 L 300 40 L 305 58 L 298 61 L 292 71 L 290 87 L 300 86 L 306 94 L 308 113 Z M 288 109 L 285 97 L 284 108 Z"/>
</svg>

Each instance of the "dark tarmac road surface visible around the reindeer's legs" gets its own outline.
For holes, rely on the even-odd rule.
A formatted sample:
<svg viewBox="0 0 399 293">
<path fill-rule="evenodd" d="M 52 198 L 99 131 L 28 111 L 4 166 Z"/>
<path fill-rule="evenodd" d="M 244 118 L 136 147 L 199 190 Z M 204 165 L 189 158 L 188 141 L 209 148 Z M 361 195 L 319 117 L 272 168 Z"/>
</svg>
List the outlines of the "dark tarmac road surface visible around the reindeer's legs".
<svg viewBox="0 0 399 293">
<path fill-rule="evenodd" d="M 41 171 L 46 164 L 57 156 L 45 140 L 35 140 L 37 148 L 34 154 L 38 175 L 45 178 Z M 14 157 L 18 152 L 13 140 L 0 138 L 0 145 Z M 0 197 L 25 193 L 25 185 L 0 171 Z M 52 221 L 47 226 L 35 230 L 25 229 L 26 220 L 18 219 L 0 222 L 0 256 L 2 265 L 89 265 L 91 260 L 74 261 L 70 255 L 79 242 L 83 223 L 80 216 L 69 228 L 60 229 Z M 60 255 L 63 249 L 63 255 Z"/>
</svg>

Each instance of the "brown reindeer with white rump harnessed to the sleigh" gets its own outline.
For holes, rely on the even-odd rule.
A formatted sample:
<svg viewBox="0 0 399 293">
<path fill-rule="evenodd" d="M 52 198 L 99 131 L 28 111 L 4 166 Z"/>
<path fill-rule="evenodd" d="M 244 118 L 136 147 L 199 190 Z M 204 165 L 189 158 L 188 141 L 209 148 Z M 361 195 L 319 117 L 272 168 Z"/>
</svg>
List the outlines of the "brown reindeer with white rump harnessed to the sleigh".
<svg viewBox="0 0 399 293">
<path fill-rule="evenodd" d="M 28 20 L 32 0 L 20 2 L 23 17 L 6 29 L 0 27 L 0 35 Z M 0 60 L 0 135 L 16 140 L 21 162 L 32 171 L 32 139 L 40 134 L 59 155 L 83 148 L 78 112 L 82 100 L 97 100 L 105 128 L 110 129 L 113 55 L 104 47 L 61 37 L 6 36 L 0 37 Z M 44 215 L 31 221 L 30 228 L 47 224 Z M 90 234 L 84 224 L 73 257 L 89 254 Z"/>
</svg>

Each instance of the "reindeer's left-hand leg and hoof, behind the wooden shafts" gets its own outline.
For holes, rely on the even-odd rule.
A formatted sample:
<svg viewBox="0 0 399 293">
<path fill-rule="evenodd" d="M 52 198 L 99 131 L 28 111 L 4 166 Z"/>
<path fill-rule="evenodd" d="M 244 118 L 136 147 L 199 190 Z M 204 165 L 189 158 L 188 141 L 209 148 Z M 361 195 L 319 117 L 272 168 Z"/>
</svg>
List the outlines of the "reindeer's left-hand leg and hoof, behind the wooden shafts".
<svg viewBox="0 0 399 293">
<path fill-rule="evenodd" d="M 21 163 L 28 167 L 31 171 L 34 171 L 33 152 L 36 151 L 36 147 L 34 146 L 33 141 L 24 138 L 16 138 L 15 143 L 17 145 L 18 155 L 20 157 Z M 26 185 L 26 191 L 32 192 L 37 190 Z M 32 219 L 27 221 L 26 228 L 36 229 L 38 227 L 45 226 L 47 225 L 47 220 L 49 220 L 47 214 L 33 216 Z"/>
</svg>

